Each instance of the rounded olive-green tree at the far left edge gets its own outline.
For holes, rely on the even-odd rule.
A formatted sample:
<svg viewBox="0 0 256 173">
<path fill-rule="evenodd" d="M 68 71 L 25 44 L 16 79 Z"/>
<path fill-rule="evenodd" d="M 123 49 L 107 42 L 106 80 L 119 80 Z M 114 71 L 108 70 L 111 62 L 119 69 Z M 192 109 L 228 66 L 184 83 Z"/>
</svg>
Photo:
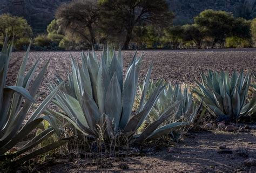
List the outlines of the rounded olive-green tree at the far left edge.
<svg viewBox="0 0 256 173">
<path fill-rule="evenodd" d="M 32 37 L 32 29 L 26 19 L 22 17 L 11 16 L 10 14 L 3 14 L 0 16 L 0 37 L 2 40 L 5 35 L 15 37 L 15 40 L 21 38 Z"/>
</svg>

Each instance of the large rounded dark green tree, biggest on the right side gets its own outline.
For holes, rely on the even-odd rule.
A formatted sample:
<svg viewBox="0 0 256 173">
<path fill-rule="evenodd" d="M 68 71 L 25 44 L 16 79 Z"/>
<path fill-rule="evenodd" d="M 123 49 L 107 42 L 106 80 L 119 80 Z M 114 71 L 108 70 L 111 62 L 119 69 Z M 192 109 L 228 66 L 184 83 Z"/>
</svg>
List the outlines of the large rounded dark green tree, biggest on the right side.
<svg viewBox="0 0 256 173">
<path fill-rule="evenodd" d="M 231 13 L 225 11 L 204 10 L 194 18 L 194 23 L 202 27 L 207 36 L 213 39 L 212 48 L 216 43 L 224 45 L 230 36 L 234 24 Z"/>
</svg>

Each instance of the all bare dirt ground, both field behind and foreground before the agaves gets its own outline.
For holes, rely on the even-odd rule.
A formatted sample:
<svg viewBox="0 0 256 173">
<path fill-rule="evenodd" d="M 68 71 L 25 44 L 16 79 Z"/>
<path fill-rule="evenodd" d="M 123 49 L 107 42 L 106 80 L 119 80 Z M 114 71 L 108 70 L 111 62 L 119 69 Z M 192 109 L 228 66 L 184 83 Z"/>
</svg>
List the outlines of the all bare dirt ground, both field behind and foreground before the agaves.
<svg viewBox="0 0 256 173">
<path fill-rule="evenodd" d="M 199 71 L 225 70 L 232 73 L 233 70 L 256 70 L 256 49 L 247 50 L 202 50 L 202 51 L 143 51 L 146 53 L 140 75 L 144 76 L 150 61 L 154 61 L 152 78 L 165 79 L 175 83 L 194 84 L 200 81 Z M 79 59 L 80 52 L 31 52 L 28 62 L 30 68 L 36 60 L 43 64 L 51 58 L 46 76 L 53 80 L 55 75 L 66 79 L 71 70 L 69 53 Z M 97 52 L 98 54 L 100 52 Z M 141 54 L 142 51 L 138 51 Z M 134 51 L 124 51 L 125 67 L 128 66 Z M 8 85 L 14 84 L 19 64 L 21 64 L 24 52 L 14 52 L 10 60 L 8 73 Z M 41 87 L 41 95 L 46 95 L 48 89 L 45 84 Z M 248 171 L 242 163 L 248 157 L 256 158 L 256 131 L 242 133 L 226 133 L 219 130 L 211 132 L 190 132 L 184 140 L 174 146 L 163 146 L 153 149 L 152 153 L 126 158 L 113 158 L 106 164 L 110 168 L 99 168 L 91 164 L 90 158 L 77 158 L 70 161 L 68 158 L 55 160 L 51 164 L 45 163 L 45 167 L 37 167 L 35 171 L 51 172 L 76 172 L 76 171 L 122 171 L 119 165 L 126 163 L 128 169 L 123 171 L 175 171 L 175 172 L 212 172 L 212 171 Z M 225 144 L 227 151 L 221 151 L 219 147 Z M 153 146 L 152 146 L 153 148 Z M 170 151 L 170 152 L 168 152 Z M 219 151 L 224 153 L 219 153 Z M 226 153 L 225 153 L 226 152 Z M 1 171 L 0 171 L 1 172 Z"/>
</svg>

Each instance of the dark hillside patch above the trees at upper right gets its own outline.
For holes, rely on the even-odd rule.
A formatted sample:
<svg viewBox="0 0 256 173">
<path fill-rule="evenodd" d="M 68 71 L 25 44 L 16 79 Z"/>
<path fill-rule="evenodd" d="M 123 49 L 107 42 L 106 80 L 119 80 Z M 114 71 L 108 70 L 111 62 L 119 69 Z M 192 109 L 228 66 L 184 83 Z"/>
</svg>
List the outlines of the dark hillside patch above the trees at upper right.
<svg viewBox="0 0 256 173">
<path fill-rule="evenodd" d="M 256 17 L 256 0 L 167 0 L 176 15 L 174 23 L 192 23 L 193 17 L 205 9 L 232 12 L 235 17 Z"/>
</svg>

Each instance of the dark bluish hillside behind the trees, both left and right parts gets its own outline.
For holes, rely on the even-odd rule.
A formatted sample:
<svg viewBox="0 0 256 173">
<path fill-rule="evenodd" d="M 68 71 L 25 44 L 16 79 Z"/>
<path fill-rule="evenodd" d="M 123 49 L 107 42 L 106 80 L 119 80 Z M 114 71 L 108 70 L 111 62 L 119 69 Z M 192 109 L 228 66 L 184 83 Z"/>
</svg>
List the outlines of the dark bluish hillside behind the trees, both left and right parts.
<svg viewBox="0 0 256 173">
<path fill-rule="evenodd" d="M 0 0 L 0 14 L 23 16 L 33 31 L 44 32 L 62 3 L 72 0 Z M 256 0 L 166 0 L 176 15 L 175 24 L 192 23 L 193 17 L 205 9 L 224 10 L 235 17 L 256 17 Z"/>
</svg>

